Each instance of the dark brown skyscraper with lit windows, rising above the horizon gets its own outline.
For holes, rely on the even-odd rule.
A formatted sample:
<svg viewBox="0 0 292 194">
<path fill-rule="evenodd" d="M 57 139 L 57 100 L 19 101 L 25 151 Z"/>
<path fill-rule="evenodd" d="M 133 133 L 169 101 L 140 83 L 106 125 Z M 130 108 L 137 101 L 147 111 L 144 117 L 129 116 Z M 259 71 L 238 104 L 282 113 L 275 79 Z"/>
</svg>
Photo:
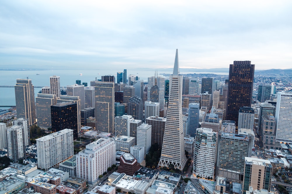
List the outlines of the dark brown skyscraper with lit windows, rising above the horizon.
<svg viewBox="0 0 292 194">
<path fill-rule="evenodd" d="M 251 106 L 255 65 L 251 61 L 234 61 L 229 67 L 226 120 L 238 125 L 239 108 Z"/>
</svg>

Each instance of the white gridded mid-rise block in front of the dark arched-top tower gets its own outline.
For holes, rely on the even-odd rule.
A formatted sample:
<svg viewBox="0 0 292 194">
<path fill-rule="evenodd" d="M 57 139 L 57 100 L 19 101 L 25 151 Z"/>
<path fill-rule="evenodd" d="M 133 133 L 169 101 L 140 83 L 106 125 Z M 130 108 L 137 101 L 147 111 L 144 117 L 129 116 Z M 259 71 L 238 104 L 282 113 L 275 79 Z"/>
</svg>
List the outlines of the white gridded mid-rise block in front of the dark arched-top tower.
<svg viewBox="0 0 292 194">
<path fill-rule="evenodd" d="M 134 120 L 131 115 L 116 116 L 115 136 L 130 136 L 130 121 Z"/>
</svg>

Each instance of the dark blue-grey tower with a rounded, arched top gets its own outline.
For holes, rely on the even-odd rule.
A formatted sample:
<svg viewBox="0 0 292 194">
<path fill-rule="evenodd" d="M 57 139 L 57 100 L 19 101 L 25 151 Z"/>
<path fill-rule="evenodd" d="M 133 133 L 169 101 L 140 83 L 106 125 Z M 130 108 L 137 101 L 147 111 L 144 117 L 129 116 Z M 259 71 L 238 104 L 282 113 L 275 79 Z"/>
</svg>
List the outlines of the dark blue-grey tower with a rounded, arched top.
<svg viewBox="0 0 292 194">
<path fill-rule="evenodd" d="M 128 115 L 132 115 L 134 119 L 144 120 L 143 118 L 143 100 L 139 97 L 131 97 L 128 103 Z"/>
</svg>

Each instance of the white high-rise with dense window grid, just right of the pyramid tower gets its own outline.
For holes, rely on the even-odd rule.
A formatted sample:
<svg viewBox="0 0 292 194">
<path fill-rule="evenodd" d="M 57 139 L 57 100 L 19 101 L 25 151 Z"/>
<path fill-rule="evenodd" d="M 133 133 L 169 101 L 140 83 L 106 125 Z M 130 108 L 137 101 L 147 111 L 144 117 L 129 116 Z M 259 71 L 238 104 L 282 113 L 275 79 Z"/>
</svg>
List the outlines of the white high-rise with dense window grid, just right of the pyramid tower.
<svg viewBox="0 0 292 194">
<path fill-rule="evenodd" d="M 217 133 L 212 129 L 198 128 L 194 145 L 194 175 L 214 180 L 216 156 Z"/>
</svg>

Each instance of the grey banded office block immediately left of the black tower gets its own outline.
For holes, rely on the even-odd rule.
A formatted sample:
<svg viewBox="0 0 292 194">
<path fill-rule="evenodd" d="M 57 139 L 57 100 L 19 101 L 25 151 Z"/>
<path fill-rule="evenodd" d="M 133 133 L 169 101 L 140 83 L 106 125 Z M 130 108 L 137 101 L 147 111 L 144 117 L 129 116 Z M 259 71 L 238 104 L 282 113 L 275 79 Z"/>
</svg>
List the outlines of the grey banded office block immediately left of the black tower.
<svg viewBox="0 0 292 194">
<path fill-rule="evenodd" d="M 51 106 L 57 104 L 54 94 L 37 94 L 36 119 L 37 125 L 42 129 L 52 128 Z"/>
</svg>

